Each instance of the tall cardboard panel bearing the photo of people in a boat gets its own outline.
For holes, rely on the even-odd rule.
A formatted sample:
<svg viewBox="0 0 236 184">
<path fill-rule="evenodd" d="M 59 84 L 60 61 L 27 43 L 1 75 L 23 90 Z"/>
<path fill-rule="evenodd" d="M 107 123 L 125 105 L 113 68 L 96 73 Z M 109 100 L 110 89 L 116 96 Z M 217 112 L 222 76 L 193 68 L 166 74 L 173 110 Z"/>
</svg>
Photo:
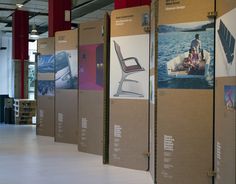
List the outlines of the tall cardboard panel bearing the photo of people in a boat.
<svg viewBox="0 0 236 184">
<path fill-rule="evenodd" d="M 209 184 L 214 20 L 207 15 L 214 0 L 161 0 L 159 5 L 157 183 Z"/>
</svg>

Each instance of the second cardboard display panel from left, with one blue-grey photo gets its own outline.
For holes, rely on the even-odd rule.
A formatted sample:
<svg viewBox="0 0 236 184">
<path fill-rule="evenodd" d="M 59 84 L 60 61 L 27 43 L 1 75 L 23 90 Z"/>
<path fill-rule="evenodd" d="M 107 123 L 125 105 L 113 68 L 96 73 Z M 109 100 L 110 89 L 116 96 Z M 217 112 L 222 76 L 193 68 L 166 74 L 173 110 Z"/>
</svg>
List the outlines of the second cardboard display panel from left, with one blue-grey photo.
<svg viewBox="0 0 236 184">
<path fill-rule="evenodd" d="M 78 29 L 55 34 L 55 141 L 78 143 Z"/>
</svg>

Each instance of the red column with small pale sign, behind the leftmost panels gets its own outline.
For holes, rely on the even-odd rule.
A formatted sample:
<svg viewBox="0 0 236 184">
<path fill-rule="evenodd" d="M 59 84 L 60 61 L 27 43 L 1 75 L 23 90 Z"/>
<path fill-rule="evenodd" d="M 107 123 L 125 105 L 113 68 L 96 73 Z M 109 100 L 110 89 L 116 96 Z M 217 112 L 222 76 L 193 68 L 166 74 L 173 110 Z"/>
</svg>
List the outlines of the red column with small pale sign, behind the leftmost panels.
<svg viewBox="0 0 236 184">
<path fill-rule="evenodd" d="M 71 29 L 71 0 L 48 0 L 48 35 Z M 68 16 L 69 15 L 69 16 Z"/>
</svg>

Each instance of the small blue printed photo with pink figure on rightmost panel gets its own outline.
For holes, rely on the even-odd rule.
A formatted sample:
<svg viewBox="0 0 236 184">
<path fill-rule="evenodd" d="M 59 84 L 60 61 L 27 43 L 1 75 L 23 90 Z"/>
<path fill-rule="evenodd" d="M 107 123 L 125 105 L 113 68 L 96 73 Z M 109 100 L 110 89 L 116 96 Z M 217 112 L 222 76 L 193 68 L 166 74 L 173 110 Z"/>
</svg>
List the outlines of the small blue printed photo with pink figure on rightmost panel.
<svg viewBox="0 0 236 184">
<path fill-rule="evenodd" d="M 236 110 L 236 86 L 224 86 L 224 102 L 227 110 Z"/>
</svg>

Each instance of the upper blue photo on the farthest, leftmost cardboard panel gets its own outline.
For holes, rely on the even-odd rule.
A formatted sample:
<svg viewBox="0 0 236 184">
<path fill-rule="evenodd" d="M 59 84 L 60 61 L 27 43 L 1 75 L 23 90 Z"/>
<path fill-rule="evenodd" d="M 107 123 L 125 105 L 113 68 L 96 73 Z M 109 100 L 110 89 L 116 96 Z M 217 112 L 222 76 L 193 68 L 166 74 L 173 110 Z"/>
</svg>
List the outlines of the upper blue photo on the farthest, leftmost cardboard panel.
<svg viewBox="0 0 236 184">
<path fill-rule="evenodd" d="M 38 73 L 54 73 L 54 55 L 39 55 Z"/>
</svg>

